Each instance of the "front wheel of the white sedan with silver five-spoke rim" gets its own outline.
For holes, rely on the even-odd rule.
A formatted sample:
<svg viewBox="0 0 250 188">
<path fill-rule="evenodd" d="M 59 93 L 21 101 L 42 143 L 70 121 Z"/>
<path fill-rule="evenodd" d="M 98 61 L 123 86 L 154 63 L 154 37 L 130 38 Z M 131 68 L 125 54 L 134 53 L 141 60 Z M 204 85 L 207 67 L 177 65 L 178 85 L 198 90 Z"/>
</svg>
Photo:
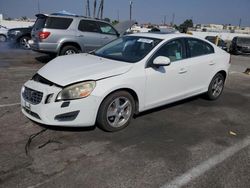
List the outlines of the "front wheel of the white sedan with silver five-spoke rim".
<svg viewBox="0 0 250 188">
<path fill-rule="evenodd" d="M 104 99 L 98 114 L 97 126 L 107 132 L 127 127 L 135 112 L 135 101 L 126 91 L 115 92 Z"/>
</svg>

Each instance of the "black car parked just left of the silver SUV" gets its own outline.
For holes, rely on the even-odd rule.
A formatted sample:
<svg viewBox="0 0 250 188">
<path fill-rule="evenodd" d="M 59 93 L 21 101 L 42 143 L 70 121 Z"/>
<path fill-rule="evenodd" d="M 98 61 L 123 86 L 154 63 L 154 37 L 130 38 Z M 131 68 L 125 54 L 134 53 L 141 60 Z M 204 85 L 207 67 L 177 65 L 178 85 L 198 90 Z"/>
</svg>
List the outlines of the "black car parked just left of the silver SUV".
<svg viewBox="0 0 250 188">
<path fill-rule="evenodd" d="M 8 41 L 22 49 L 30 49 L 28 41 L 31 39 L 32 27 L 13 28 L 8 31 Z"/>
</svg>

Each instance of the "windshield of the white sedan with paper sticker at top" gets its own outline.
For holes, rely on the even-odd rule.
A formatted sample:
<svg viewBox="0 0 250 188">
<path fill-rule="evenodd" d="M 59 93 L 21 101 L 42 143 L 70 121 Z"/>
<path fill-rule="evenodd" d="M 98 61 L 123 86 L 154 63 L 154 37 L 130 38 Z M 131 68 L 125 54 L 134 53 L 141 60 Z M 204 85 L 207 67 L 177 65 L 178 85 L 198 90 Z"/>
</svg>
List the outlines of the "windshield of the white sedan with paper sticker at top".
<svg viewBox="0 0 250 188">
<path fill-rule="evenodd" d="M 162 40 L 125 36 L 105 45 L 94 54 L 100 57 L 135 63 L 144 58 Z"/>
</svg>

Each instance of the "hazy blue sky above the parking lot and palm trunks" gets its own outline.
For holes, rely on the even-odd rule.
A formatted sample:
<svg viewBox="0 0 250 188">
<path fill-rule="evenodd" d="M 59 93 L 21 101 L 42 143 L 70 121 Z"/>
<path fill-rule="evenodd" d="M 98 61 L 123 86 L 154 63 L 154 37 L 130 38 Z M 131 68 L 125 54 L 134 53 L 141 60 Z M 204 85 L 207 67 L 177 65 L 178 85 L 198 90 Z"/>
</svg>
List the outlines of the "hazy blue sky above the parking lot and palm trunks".
<svg viewBox="0 0 250 188">
<path fill-rule="evenodd" d="M 86 0 L 0 0 L 0 14 L 4 17 L 35 18 L 38 2 L 41 13 L 62 10 L 85 15 Z M 100 0 L 98 0 L 99 2 Z M 91 12 L 93 2 L 90 0 Z M 250 0 L 133 0 L 132 18 L 138 23 L 180 24 L 193 19 L 195 24 L 232 24 L 250 26 Z M 119 16 L 118 16 L 119 15 Z M 129 19 L 129 0 L 105 0 L 104 17 L 111 20 Z"/>
</svg>

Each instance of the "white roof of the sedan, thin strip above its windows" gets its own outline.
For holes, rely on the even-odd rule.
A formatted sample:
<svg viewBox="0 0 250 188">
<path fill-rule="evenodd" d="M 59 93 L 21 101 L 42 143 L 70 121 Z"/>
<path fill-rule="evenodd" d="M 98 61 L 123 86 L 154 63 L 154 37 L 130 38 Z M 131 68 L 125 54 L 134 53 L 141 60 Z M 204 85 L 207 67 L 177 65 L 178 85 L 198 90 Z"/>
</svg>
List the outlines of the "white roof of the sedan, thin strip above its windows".
<svg viewBox="0 0 250 188">
<path fill-rule="evenodd" d="M 197 38 L 194 37 L 192 35 L 189 34 L 183 34 L 183 33 L 135 33 L 135 34 L 131 34 L 132 36 L 139 36 L 139 37 L 149 37 L 149 38 L 158 38 L 158 39 L 171 39 L 171 38 L 177 38 L 177 37 L 193 37 L 193 38 Z"/>
</svg>

